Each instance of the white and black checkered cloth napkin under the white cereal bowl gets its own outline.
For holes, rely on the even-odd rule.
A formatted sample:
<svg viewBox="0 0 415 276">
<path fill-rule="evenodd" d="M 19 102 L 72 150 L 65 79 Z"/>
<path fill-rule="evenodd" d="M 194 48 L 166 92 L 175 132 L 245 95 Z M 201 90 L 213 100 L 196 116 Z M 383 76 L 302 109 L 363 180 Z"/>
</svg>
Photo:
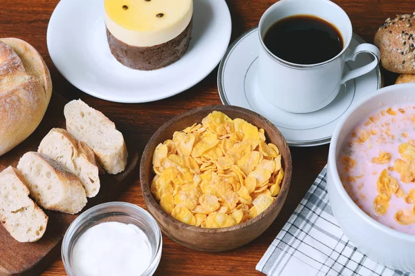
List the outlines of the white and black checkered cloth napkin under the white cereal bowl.
<svg viewBox="0 0 415 276">
<path fill-rule="evenodd" d="M 324 168 L 257 264 L 266 275 L 405 275 L 381 266 L 351 244 L 333 217 Z"/>
</svg>

